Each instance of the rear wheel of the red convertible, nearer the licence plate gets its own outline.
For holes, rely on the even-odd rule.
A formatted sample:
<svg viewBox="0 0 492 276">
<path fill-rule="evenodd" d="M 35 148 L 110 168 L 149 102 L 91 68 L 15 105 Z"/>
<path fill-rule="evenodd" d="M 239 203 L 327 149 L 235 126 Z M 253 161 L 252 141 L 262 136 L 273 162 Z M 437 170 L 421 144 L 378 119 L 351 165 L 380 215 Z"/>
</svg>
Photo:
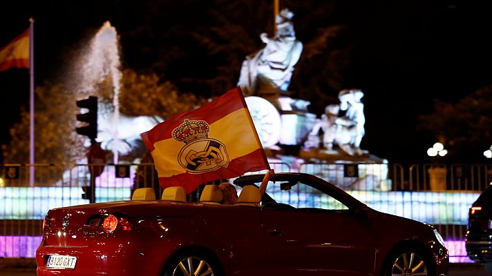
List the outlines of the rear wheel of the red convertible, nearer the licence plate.
<svg viewBox="0 0 492 276">
<path fill-rule="evenodd" d="M 223 276 L 216 258 L 200 250 L 187 250 L 173 255 L 163 276 L 209 275 Z"/>
</svg>

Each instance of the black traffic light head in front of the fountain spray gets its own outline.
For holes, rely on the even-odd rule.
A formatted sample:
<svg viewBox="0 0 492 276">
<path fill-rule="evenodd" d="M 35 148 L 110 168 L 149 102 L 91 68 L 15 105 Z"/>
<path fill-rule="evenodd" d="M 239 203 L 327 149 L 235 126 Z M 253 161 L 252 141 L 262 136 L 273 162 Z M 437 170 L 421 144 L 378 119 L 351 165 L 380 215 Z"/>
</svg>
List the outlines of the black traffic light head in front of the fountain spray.
<svg viewBox="0 0 492 276">
<path fill-rule="evenodd" d="M 75 128 L 79 135 L 86 135 L 91 139 L 91 143 L 95 143 L 97 138 L 97 97 L 88 97 L 77 101 L 79 108 L 86 108 L 88 112 L 77 114 L 77 121 L 87 123 L 86 126 Z"/>
</svg>

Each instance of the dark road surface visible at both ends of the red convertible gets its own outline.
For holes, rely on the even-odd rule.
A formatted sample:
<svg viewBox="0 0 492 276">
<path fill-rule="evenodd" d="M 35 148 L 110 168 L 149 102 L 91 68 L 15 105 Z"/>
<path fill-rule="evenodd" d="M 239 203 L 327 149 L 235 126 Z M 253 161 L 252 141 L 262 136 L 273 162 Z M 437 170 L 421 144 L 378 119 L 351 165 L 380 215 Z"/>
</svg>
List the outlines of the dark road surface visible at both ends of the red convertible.
<svg viewBox="0 0 492 276">
<path fill-rule="evenodd" d="M 0 276 L 36 276 L 36 269 L 3 269 Z M 448 276 L 491 276 L 481 264 L 451 264 Z"/>
</svg>

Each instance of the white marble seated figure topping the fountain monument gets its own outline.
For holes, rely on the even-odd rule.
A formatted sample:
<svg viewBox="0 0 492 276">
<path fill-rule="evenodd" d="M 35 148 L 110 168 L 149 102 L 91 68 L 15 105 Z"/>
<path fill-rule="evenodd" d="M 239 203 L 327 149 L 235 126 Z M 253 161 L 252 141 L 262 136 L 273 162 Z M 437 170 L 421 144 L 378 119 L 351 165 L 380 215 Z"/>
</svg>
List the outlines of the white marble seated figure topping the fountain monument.
<svg viewBox="0 0 492 276">
<path fill-rule="evenodd" d="M 265 48 L 249 55 L 243 61 L 238 86 L 245 95 L 262 96 L 287 91 L 299 61 L 303 44 L 296 40 L 292 12 L 284 9 L 276 17 L 275 37 L 268 37 L 263 32 L 260 37 Z"/>
</svg>

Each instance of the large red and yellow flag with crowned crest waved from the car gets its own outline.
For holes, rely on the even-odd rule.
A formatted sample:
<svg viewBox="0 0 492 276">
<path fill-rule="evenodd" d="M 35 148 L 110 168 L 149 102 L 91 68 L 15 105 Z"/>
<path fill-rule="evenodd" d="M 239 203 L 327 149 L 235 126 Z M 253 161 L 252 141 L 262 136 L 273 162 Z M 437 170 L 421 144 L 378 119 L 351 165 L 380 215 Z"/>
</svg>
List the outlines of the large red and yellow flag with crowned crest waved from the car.
<svg viewBox="0 0 492 276">
<path fill-rule="evenodd" d="M 208 181 L 269 169 L 239 87 L 141 136 L 164 188 L 183 186 L 191 193 Z"/>
</svg>

